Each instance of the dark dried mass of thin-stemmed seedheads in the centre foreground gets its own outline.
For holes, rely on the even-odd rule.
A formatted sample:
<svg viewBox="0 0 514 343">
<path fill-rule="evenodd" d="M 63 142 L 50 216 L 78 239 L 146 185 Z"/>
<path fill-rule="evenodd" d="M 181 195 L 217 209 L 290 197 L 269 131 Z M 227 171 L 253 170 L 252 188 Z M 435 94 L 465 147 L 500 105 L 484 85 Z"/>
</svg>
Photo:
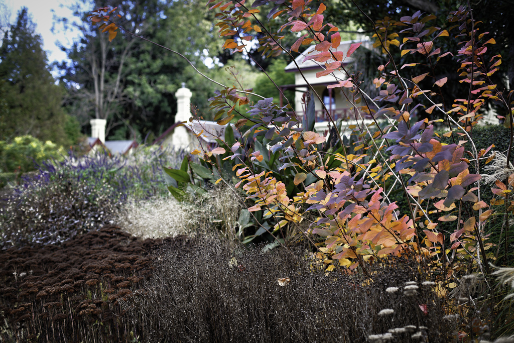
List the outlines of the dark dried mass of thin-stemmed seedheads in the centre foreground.
<svg viewBox="0 0 514 343">
<path fill-rule="evenodd" d="M 414 259 L 374 263 L 371 281 L 344 270 L 326 274 L 316 255 L 298 247 L 231 251 L 209 239 L 156 251 L 154 276 L 121 302 L 139 339 L 366 342 L 393 332 L 395 341 L 417 342 L 411 336 L 419 333 L 421 341 L 446 342 L 456 330 L 443 319 L 427 266 Z"/>
</svg>

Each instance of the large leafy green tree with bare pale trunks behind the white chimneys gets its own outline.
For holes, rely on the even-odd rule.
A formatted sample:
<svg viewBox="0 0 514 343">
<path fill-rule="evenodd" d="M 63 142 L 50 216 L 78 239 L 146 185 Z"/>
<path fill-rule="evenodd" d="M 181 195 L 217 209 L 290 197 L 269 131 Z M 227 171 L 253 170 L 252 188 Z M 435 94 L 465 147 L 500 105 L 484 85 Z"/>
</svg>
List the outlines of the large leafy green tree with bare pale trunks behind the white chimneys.
<svg viewBox="0 0 514 343">
<path fill-rule="evenodd" d="M 95 7 L 110 3 L 97 1 Z M 82 37 L 66 48 L 70 62 L 59 66 L 68 89 L 67 106 L 74 109 L 83 127 L 95 117 L 107 119 L 109 137 L 159 135 L 174 123 L 174 93 L 182 82 L 194 90 L 192 103 L 207 109 L 213 85 L 201 80 L 182 58 L 125 31 L 171 47 L 207 71 L 202 63 L 205 52 L 219 48 L 212 22 L 205 15 L 205 0 L 123 2 L 116 11 L 121 15 L 117 21 L 123 28 L 118 31 L 121 37 L 111 42 L 87 22 L 91 8 L 84 4 L 88 3 L 74 6 L 80 21 L 73 25 Z M 67 24 L 64 19 L 61 22 Z"/>
</svg>

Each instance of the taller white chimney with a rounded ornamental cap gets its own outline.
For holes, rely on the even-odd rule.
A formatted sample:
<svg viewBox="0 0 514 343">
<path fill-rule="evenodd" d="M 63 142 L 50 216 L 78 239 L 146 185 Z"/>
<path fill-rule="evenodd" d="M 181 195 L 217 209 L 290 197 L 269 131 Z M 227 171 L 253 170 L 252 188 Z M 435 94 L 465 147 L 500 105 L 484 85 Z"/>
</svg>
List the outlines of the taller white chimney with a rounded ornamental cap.
<svg viewBox="0 0 514 343">
<path fill-rule="evenodd" d="M 177 98 L 177 114 L 175 115 L 175 122 L 189 121 L 191 117 L 191 96 L 193 93 L 186 88 L 186 84 L 182 82 L 182 88 L 178 88 L 175 93 Z M 190 149 L 192 143 L 191 134 L 185 126 L 180 126 L 173 130 L 172 144 L 177 149 Z"/>
</svg>

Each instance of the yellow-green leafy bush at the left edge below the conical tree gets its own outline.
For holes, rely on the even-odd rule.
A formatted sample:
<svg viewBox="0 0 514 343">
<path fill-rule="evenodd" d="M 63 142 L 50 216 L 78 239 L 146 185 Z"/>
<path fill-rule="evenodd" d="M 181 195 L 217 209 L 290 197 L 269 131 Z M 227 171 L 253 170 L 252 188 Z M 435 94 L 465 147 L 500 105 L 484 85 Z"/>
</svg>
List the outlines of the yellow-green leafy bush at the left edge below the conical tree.
<svg viewBox="0 0 514 343">
<path fill-rule="evenodd" d="M 15 137 L 10 143 L 0 141 L 0 170 L 22 174 L 36 170 L 44 160 L 62 159 L 64 154 L 62 147 L 49 140 L 42 142 L 30 135 Z"/>
</svg>

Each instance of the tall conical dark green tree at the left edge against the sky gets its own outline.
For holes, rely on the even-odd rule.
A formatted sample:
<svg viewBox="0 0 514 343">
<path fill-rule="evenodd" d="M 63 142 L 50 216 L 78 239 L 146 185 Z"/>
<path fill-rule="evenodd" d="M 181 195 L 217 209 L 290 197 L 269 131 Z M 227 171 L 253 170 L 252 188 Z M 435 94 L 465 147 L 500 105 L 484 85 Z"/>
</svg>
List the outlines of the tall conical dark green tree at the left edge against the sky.
<svg viewBox="0 0 514 343">
<path fill-rule="evenodd" d="M 0 139 L 32 135 L 68 145 L 64 132 L 68 120 L 62 109 L 63 89 L 48 71 L 41 37 L 35 33 L 27 9 L 4 34 L 0 47 L 0 81 L 6 109 L 2 111 Z"/>
</svg>

